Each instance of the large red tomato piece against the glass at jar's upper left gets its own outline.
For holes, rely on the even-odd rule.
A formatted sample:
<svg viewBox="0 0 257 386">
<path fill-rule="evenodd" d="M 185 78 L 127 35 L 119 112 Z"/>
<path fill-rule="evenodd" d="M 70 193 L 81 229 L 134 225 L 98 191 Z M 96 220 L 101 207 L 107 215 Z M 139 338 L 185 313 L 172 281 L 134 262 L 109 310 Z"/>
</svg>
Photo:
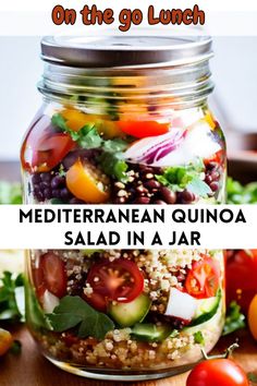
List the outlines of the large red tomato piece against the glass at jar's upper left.
<svg viewBox="0 0 257 386">
<path fill-rule="evenodd" d="M 44 172 L 53 169 L 74 147 L 66 133 L 52 128 L 50 119 L 42 116 L 28 132 L 22 147 L 21 161 L 29 172 Z"/>
</svg>

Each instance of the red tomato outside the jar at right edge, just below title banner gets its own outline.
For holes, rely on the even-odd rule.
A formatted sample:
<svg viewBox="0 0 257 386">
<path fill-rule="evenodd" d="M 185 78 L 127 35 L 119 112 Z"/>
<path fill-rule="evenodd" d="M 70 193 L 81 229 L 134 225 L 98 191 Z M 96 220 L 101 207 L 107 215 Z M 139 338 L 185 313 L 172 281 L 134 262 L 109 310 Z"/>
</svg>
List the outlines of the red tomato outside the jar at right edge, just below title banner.
<svg viewBox="0 0 257 386">
<path fill-rule="evenodd" d="M 236 300 L 247 313 L 249 303 L 257 293 L 257 250 L 228 252 L 227 302 Z"/>
</svg>

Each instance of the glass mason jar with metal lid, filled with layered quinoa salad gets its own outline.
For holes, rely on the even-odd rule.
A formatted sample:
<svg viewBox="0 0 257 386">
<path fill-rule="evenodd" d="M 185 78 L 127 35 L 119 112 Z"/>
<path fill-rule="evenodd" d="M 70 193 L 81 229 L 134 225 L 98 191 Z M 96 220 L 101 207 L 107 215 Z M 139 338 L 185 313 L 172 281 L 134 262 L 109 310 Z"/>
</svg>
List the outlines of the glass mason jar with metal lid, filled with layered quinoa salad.
<svg viewBox="0 0 257 386">
<path fill-rule="evenodd" d="M 25 204 L 224 202 L 209 38 L 48 37 L 41 49 Z M 223 272 L 222 251 L 28 251 L 27 325 L 44 355 L 76 374 L 176 374 L 220 337 Z"/>
</svg>

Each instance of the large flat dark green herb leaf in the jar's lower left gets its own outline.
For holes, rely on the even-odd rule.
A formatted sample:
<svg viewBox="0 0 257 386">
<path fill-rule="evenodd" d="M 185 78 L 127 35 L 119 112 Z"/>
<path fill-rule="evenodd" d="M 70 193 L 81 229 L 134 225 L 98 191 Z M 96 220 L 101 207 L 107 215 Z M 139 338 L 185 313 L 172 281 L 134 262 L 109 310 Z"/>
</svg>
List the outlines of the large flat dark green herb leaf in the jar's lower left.
<svg viewBox="0 0 257 386">
<path fill-rule="evenodd" d="M 53 313 L 48 314 L 47 317 L 52 329 L 58 333 L 77 326 L 77 336 L 81 338 L 93 336 L 103 339 L 106 334 L 114 328 L 109 316 L 94 310 L 79 297 L 62 298 Z"/>
</svg>

